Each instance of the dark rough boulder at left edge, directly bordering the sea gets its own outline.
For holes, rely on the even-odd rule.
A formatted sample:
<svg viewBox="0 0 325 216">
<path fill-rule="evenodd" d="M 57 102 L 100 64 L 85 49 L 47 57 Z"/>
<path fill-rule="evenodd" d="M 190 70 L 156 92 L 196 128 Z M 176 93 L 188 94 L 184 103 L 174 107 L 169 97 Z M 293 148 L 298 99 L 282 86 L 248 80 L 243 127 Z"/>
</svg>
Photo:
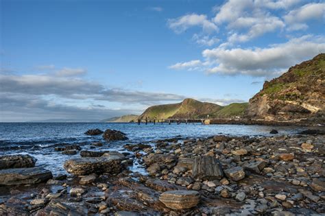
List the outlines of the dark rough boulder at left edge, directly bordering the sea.
<svg viewBox="0 0 325 216">
<path fill-rule="evenodd" d="M 0 169 L 34 167 L 36 160 L 28 154 L 0 156 Z"/>
</svg>

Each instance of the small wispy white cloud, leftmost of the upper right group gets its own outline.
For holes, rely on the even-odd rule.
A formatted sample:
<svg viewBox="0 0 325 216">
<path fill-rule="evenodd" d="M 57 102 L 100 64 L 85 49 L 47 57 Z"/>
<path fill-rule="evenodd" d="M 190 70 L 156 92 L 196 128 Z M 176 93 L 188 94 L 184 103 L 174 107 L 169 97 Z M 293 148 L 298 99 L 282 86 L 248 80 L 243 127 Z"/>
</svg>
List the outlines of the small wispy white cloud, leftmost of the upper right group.
<svg viewBox="0 0 325 216">
<path fill-rule="evenodd" d="M 217 25 L 209 21 L 204 14 L 187 14 L 176 19 L 169 19 L 167 24 L 169 28 L 178 34 L 194 26 L 202 27 L 204 32 L 215 32 L 218 30 Z"/>
</svg>

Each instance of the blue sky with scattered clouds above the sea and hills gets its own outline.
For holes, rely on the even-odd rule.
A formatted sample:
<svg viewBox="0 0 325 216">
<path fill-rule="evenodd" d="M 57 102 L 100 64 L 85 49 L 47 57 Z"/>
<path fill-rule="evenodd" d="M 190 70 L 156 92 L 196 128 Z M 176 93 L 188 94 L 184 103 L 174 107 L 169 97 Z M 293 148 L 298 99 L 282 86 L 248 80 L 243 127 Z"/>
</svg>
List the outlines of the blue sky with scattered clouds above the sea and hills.
<svg viewBox="0 0 325 216">
<path fill-rule="evenodd" d="M 245 102 L 325 52 L 324 1 L 0 3 L 0 121 Z"/>
</svg>

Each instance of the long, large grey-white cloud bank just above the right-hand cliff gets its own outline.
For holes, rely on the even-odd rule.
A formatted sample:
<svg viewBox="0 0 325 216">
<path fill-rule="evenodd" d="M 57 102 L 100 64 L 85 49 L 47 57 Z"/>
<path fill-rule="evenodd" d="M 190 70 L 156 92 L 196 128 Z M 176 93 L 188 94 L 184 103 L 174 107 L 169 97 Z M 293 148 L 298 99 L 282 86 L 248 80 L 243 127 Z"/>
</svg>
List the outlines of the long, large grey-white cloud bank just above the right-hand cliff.
<svg viewBox="0 0 325 216">
<path fill-rule="evenodd" d="M 287 43 L 270 45 L 265 48 L 217 47 L 205 49 L 202 51 L 204 61 L 200 61 L 200 64 L 202 70 L 207 73 L 274 77 L 292 65 L 308 60 L 322 52 L 325 52 L 324 37 L 303 36 L 292 38 Z M 189 62 L 177 63 L 179 67 L 188 64 Z M 182 68 L 186 69 L 186 67 Z"/>
</svg>

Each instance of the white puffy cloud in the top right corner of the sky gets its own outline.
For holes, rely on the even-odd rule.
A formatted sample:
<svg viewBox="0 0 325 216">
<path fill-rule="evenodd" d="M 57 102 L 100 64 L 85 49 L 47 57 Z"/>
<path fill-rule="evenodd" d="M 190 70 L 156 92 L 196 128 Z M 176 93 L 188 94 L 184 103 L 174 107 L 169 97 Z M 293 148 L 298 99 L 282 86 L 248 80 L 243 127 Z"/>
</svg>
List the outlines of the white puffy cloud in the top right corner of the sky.
<svg viewBox="0 0 325 216">
<path fill-rule="evenodd" d="M 288 23 L 288 30 L 306 29 L 306 21 L 322 20 L 325 14 L 325 3 L 308 3 L 302 7 L 291 10 L 285 16 L 285 22 Z"/>
</svg>

